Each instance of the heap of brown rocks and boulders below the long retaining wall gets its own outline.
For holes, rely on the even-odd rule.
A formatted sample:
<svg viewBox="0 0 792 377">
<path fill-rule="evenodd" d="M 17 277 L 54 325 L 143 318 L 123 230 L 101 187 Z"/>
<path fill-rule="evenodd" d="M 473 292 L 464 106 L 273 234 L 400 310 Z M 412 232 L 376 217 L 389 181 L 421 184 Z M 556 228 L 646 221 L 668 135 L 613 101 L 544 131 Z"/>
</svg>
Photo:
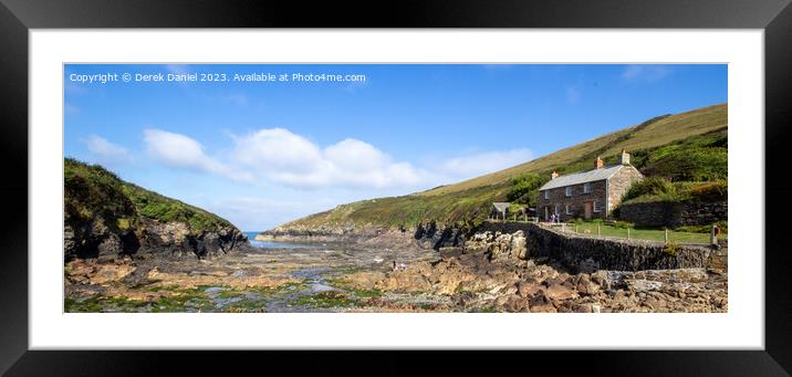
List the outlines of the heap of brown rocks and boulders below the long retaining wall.
<svg viewBox="0 0 792 377">
<path fill-rule="evenodd" d="M 439 311 L 726 312 L 727 276 L 706 269 L 570 274 L 552 261 L 520 260 L 521 234 L 404 271 L 345 276 L 356 289 L 448 297 Z M 479 244 L 481 245 L 481 244 Z M 388 306 L 387 304 L 385 306 Z"/>
</svg>

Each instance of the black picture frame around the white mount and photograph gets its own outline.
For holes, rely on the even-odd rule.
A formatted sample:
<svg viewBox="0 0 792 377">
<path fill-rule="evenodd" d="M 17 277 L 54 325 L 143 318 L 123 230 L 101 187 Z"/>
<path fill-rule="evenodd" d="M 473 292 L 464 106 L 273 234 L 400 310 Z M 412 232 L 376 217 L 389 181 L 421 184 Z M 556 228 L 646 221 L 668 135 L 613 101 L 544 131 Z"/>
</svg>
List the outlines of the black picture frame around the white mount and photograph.
<svg viewBox="0 0 792 377">
<path fill-rule="evenodd" d="M 684 28 L 764 30 L 765 197 L 782 203 L 792 192 L 785 144 L 791 140 L 792 7 L 790 0 L 555 0 L 302 2 L 222 0 L 0 0 L 0 371 L 8 376 L 229 375 L 249 363 L 286 359 L 324 373 L 396 375 L 483 367 L 631 376 L 788 376 L 792 370 L 792 253 L 782 211 L 765 211 L 763 350 L 520 352 L 497 355 L 346 352 L 117 352 L 28 349 L 28 31 L 51 28 Z M 760 125 L 757 125 L 759 127 Z M 50 234 L 52 235 L 52 234 Z M 56 237 L 56 235 L 52 235 Z M 761 250 L 738 250 L 761 255 Z M 86 329 L 90 331 L 90 329 Z M 211 353 L 211 355 L 209 355 Z M 286 357 L 288 356 L 288 357 Z M 416 369 L 410 362 L 426 363 Z M 477 362 L 478 360 L 478 362 Z M 507 362 L 508 360 L 508 362 Z M 310 365 L 305 362 L 309 362 Z M 292 366 L 301 364 L 292 364 Z M 352 370 L 348 366 L 354 366 Z M 528 368 L 527 368 L 528 367 Z M 240 369 L 242 370 L 242 369 Z M 256 370 L 256 369 L 253 369 Z M 539 369 L 536 369 L 539 370 Z M 303 370 L 305 371 L 305 370 Z M 268 371 L 269 373 L 269 371 Z"/>
</svg>

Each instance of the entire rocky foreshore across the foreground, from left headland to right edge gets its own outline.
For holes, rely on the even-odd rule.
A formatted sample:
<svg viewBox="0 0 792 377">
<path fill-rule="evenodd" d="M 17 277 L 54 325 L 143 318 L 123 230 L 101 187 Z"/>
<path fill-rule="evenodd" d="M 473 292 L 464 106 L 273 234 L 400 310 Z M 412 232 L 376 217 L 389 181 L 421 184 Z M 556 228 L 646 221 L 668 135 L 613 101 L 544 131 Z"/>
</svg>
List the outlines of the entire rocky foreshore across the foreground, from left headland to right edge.
<svg viewBox="0 0 792 377">
<path fill-rule="evenodd" d="M 376 245 L 393 238 L 392 245 Z M 330 239 L 327 239 L 330 240 Z M 405 243 L 405 240 L 409 240 Z M 573 273 L 529 256 L 522 231 L 420 247 L 411 232 L 356 243 L 256 249 L 213 259 L 67 263 L 67 311 L 727 312 L 719 269 Z M 397 269 L 393 269 L 393 263 Z"/>
</svg>

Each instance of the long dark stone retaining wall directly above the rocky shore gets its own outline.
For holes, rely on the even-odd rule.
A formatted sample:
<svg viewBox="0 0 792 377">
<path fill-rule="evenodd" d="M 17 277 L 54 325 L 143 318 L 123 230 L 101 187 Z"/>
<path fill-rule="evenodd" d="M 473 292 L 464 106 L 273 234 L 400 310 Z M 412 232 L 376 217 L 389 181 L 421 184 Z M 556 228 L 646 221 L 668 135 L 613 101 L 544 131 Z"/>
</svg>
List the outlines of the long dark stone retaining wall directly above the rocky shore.
<svg viewBox="0 0 792 377">
<path fill-rule="evenodd" d="M 597 270 L 727 269 L 727 248 L 716 251 L 708 247 L 679 245 L 671 252 L 663 242 L 598 239 L 519 222 L 484 222 L 476 231 L 512 233 L 518 230 L 525 233 L 528 258 L 546 256 L 575 273 Z"/>
</svg>

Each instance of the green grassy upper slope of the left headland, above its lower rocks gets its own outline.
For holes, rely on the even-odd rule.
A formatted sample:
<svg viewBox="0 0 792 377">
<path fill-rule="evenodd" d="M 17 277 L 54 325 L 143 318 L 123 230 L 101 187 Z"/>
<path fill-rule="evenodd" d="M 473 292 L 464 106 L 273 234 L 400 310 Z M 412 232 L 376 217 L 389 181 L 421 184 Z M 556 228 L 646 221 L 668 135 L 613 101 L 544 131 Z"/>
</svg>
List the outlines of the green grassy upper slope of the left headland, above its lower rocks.
<svg viewBox="0 0 792 377">
<path fill-rule="evenodd" d="M 163 222 L 185 222 L 196 232 L 232 227 L 217 214 L 123 181 L 98 165 L 72 158 L 63 163 L 67 222 L 88 223 L 97 217 L 108 227 L 125 230 L 143 214 Z"/>
</svg>

